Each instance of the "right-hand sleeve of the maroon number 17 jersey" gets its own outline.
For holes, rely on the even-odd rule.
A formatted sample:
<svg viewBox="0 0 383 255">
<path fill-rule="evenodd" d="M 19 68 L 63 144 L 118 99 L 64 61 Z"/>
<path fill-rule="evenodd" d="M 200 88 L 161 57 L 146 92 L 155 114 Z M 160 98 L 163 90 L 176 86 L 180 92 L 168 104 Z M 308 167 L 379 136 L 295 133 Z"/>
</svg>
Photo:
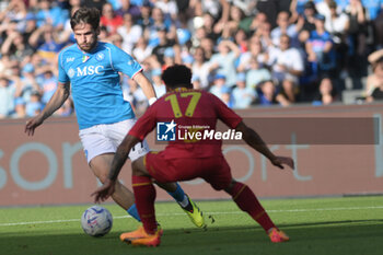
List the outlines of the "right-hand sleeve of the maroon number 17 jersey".
<svg viewBox="0 0 383 255">
<path fill-rule="evenodd" d="M 236 128 L 236 126 L 242 121 L 242 117 L 229 108 L 220 98 L 216 95 L 208 93 L 210 101 L 212 102 L 217 116 L 230 128 Z"/>
</svg>

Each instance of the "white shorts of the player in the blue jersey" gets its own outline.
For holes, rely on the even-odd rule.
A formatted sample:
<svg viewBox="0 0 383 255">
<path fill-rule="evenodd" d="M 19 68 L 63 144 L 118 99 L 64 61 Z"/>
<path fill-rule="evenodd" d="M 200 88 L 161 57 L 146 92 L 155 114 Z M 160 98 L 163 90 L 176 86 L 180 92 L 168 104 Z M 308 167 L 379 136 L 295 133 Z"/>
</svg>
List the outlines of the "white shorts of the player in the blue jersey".
<svg viewBox="0 0 383 255">
<path fill-rule="evenodd" d="M 116 153 L 117 147 L 137 121 L 136 118 L 115 124 L 102 124 L 81 129 L 79 132 L 88 163 L 96 155 Z M 131 161 L 147 154 L 150 151 L 148 142 L 143 140 L 137 143 L 129 152 Z"/>
</svg>

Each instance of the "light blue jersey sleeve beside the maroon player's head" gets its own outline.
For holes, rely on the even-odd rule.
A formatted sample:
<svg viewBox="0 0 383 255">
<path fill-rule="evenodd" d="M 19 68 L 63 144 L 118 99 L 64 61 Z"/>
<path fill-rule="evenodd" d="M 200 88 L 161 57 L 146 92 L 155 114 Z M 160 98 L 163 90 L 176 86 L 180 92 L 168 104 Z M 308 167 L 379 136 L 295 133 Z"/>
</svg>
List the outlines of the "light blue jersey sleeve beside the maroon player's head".
<svg viewBox="0 0 383 255">
<path fill-rule="evenodd" d="M 142 67 L 140 63 L 136 61 L 129 54 L 125 53 L 123 49 L 118 48 L 117 46 L 109 45 L 111 46 L 111 59 L 112 59 L 112 66 L 113 68 L 118 71 L 123 72 L 124 74 L 134 78 L 139 71 L 142 70 Z"/>
</svg>

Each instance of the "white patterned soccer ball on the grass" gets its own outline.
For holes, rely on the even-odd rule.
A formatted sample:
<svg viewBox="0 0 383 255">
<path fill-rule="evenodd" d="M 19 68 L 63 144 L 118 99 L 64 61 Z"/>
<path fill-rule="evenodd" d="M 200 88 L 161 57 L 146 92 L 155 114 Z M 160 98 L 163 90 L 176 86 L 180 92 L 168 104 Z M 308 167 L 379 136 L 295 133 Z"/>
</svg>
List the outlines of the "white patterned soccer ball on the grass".
<svg viewBox="0 0 383 255">
<path fill-rule="evenodd" d="M 104 207 L 92 206 L 82 213 L 81 227 L 91 236 L 103 236 L 107 234 L 112 225 L 112 215 Z"/>
</svg>

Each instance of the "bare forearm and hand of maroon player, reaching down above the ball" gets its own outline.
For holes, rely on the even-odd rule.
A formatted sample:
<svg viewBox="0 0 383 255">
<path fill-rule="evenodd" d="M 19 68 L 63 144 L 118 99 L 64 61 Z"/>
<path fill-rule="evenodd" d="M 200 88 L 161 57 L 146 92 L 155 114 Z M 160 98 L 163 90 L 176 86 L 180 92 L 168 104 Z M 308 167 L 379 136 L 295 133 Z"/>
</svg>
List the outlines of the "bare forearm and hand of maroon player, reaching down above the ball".
<svg viewBox="0 0 383 255">
<path fill-rule="evenodd" d="M 94 196 L 94 202 L 105 201 L 109 196 L 113 195 L 114 188 L 117 182 L 119 172 L 123 169 L 126 160 L 128 159 L 129 151 L 140 140 L 134 136 L 126 136 L 123 142 L 118 146 L 115 157 L 113 158 L 112 166 L 108 173 L 108 177 L 91 196 Z"/>
</svg>

